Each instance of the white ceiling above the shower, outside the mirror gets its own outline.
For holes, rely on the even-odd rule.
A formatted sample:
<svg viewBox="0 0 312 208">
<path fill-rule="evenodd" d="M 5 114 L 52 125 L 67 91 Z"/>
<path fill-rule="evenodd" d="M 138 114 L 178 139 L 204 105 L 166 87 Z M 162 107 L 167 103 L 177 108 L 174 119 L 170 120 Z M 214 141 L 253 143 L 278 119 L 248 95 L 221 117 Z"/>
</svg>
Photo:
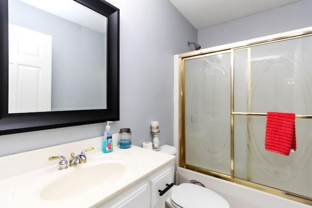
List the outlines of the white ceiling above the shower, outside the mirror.
<svg viewBox="0 0 312 208">
<path fill-rule="evenodd" d="M 299 0 L 170 0 L 196 29 L 243 18 Z"/>
</svg>

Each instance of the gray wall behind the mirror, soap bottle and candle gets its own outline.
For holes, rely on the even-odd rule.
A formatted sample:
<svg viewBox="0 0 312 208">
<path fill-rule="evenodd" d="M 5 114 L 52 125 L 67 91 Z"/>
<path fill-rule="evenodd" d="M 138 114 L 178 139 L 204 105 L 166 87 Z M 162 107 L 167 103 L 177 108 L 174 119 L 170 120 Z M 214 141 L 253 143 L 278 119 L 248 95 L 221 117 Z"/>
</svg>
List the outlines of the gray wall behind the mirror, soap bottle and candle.
<svg viewBox="0 0 312 208">
<path fill-rule="evenodd" d="M 192 51 L 196 29 L 169 0 L 109 0 L 120 9 L 120 121 L 133 144 L 152 141 L 150 122 L 159 121 L 160 143 L 173 145 L 174 55 Z M 105 124 L 90 124 L 0 136 L 0 155 L 100 136 Z M 116 144 L 115 144 L 116 145 Z"/>
</svg>

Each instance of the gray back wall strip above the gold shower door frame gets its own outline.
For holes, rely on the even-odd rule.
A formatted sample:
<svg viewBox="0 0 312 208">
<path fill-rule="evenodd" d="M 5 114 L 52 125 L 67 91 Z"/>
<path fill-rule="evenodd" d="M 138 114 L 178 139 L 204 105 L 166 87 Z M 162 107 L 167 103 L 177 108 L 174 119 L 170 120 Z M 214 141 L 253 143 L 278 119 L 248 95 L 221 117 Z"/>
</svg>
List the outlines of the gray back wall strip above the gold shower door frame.
<svg viewBox="0 0 312 208">
<path fill-rule="evenodd" d="M 198 30 L 198 43 L 209 48 L 308 26 L 312 26 L 312 0 L 302 0 Z"/>
</svg>

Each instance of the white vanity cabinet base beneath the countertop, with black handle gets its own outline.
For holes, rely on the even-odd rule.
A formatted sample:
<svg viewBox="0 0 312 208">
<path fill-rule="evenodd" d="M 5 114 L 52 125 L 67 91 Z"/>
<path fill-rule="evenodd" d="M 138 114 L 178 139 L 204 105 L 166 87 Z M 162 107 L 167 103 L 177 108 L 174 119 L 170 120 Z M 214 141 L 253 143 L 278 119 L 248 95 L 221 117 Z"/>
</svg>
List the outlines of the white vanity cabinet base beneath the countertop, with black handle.
<svg viewBox="0 0 312 208">
<path fill-rule="evenodd" d="M 171 195 L 168 185 L 173 182 L 174 162 L 152 172 L 98 208 L 164 208 L 166 199 Z M 168 190 L 160 196 L 158 190 L 166 188 Z"/>
</svg>

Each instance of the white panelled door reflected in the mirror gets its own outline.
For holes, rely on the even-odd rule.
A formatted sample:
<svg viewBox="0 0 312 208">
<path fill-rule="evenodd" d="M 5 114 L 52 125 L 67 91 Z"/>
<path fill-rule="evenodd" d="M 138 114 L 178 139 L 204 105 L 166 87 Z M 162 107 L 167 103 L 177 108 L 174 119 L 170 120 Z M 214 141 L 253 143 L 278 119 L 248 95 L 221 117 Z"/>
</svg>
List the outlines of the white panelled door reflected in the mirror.
<svg viewBox="0 0 312 208">
<path fill-rule="evenodd" d="M 9 24 L 9 113 L 51 111 L 52 37 Z"/>
</svg>

